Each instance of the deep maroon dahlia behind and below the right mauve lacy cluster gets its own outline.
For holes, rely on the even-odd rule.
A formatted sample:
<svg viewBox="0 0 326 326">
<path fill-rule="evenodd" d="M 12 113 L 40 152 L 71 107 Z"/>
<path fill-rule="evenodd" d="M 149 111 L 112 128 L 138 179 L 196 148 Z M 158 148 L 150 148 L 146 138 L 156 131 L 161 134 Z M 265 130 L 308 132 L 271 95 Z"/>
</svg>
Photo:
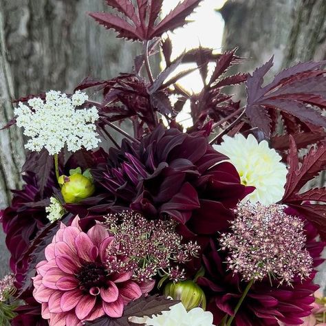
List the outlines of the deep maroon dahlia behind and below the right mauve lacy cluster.
<svg viewBox="0 0 326 326">
<path fill-rule="evenodd" d="M 288 212 L 294 215 L 294 212 Z M 320 253 L 325 243 L 316 241 L 318 235 L 316 229 L 305 222 L 307 235 L 306 248 L 314 261 L 314 267 L 320 265 Z M 225 252 L 218 251 L 217 243 L 211 241 L 210 248 L 204 255 L 206 275 L 199 278 L 201 285 L 210 303 L 208 310 L 214 314 L 215 325 L 218 325 L 226 314 L 233 314 L 235 306 L 241 297 L 247 283 L 241 281 L 239 274 L 233 274 L 226 270 Z M 237 326 L 265 326 L 279 325 L 279 321 L 285 325 L 300 325 L 301 318 L 308 316 L 314 302 L 314 292 L 318 285 L 312 283 L 316 272 L 313 271 L 307 279 L 294 279 L 292 286 L 280 285 L 266 277 L 252 285 L 248 295 L 243 301 L 239 311 L 235 315 L 234 324 Z M 279 321 L 278 321 L 279 320 Z"/>
</svg>

